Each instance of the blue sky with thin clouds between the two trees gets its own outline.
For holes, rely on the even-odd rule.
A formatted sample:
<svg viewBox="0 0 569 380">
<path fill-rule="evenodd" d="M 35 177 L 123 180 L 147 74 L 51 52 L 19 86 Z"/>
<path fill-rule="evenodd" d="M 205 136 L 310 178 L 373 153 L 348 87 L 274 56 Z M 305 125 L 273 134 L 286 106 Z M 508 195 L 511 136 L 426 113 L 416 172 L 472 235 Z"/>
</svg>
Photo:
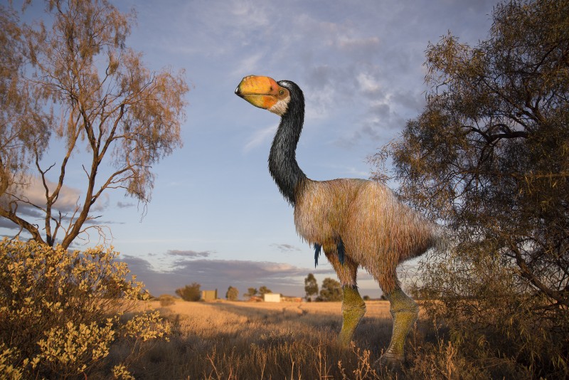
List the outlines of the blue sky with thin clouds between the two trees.
<svg viewBox="0 0 569 380">
<path fill-rule="evenodd" d="M 471 44 L 486 38 L 496 1 L 114 4 L 137 11 L 127 46 L 151 70 L 186 70 L 191 91 L 184 147 L 154 167 L 147 209 L 119 191 L 98 206 L 112 245 L 154 295 L 193 282 L 221 295 L 229 285 L 241 294 L 266 285 L 304 295 L 308 273 L 319 283 L 335 275 L 324 257 L 314 269 L 314 251 L 294 230 L 293 210 L 267 170 L 279 118 L 234 95 L 241 78 L 267 75 L 302 88 L 297 160 L 310 178 L 365 179 L 373 169 L 366 158 L 425 103 L 427 43 L 447 31 Z M 365 271 L 359 278 L 364 295 L 381 295 Z"/>
</svg>

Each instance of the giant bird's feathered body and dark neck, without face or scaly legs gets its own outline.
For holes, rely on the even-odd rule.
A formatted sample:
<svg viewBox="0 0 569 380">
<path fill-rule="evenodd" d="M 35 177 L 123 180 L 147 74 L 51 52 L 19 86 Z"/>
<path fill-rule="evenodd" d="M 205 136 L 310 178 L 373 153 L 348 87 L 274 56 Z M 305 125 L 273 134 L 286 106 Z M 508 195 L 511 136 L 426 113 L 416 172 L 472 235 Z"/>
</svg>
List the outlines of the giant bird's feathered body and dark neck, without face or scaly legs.
<svg viewBox="0 0 569 380">
<path fill-rule="evenodd" d="M 285 199 L 294 206 L 297 232 L 311 246 L 321 246 L 328 258 L 337 255 L 343 244 L 346 258 L 365 268 L 384 292 L 390 292 L 397 282 L 397 265 L 434 246 L 436 228 L 376 181 L 307 178 L 296 159 L 304 122 L 304 96 L 292 82 L 281 80 L 278 85 L 287 88 L 291 97 L 272 142 L 269 171 Z M 343 263 L 344 258 L 339 261 Z M 340 280 L 356 285 L 351 273 Z"/>
</svg>

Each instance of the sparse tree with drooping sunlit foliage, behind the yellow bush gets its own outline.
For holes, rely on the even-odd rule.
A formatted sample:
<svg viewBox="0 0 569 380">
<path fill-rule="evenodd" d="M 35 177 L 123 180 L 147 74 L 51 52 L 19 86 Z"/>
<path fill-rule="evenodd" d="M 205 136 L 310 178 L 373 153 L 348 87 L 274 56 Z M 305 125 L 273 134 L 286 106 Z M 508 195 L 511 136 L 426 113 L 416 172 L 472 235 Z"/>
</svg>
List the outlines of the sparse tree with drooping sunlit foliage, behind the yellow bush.
<svg viewBox="0 0 569 380">
<path fill-rule="evenodd" d="M 181 146 L 188 86 L 183 72 L 151 72 L 142 54 L 126 47 L 133 14 L 107 0 L 46 4 L 49 27 L 16 23 L 16 12 L 4 7 L 0 17 L 0 38 L 8 41 L 0 78 L 0 216 L 38 242 L 68 248 L 90 228 L 102 233 L 92 210 L 107 189 L 150 200 L 152 165 Z M 54 161 L 42 160 L 46 149 Z M 73 165 L 85 176 L 83 194 L 70 203 L 65 184 Z"/>
</svg>

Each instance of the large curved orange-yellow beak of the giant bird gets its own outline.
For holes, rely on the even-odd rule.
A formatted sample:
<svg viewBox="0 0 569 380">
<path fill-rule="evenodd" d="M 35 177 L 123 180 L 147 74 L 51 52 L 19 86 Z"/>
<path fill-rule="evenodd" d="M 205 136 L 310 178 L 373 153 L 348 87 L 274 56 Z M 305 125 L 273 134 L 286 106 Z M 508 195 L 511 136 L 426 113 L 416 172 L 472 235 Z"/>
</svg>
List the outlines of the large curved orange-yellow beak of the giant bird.
<svg viewBox="0 0 569 380">
<path fill-rule="evenodd" d="M 237 86 L 235 95 L 243 97 L 255 107 L 268 110 L 278 101 L 279 85 L 269 77 L 249 75 Z"/>
</svg>

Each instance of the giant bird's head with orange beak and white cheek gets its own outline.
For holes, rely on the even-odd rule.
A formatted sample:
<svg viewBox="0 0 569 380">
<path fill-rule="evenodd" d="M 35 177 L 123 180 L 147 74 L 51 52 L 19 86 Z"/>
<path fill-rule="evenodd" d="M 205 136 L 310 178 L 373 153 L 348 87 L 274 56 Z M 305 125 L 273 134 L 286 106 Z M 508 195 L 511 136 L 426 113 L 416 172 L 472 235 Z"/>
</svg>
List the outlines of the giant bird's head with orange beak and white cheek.
<svg viewBox="0 0 569 380">
<path fill-rule="evenodd" d="M 243 97 L 255 107 L 264 108 L 277 115 L 285 115 L 290 100 L 288 88 L 269 77 L 249 75 L 237 86 L 235 95 Z"/>
</svg>

